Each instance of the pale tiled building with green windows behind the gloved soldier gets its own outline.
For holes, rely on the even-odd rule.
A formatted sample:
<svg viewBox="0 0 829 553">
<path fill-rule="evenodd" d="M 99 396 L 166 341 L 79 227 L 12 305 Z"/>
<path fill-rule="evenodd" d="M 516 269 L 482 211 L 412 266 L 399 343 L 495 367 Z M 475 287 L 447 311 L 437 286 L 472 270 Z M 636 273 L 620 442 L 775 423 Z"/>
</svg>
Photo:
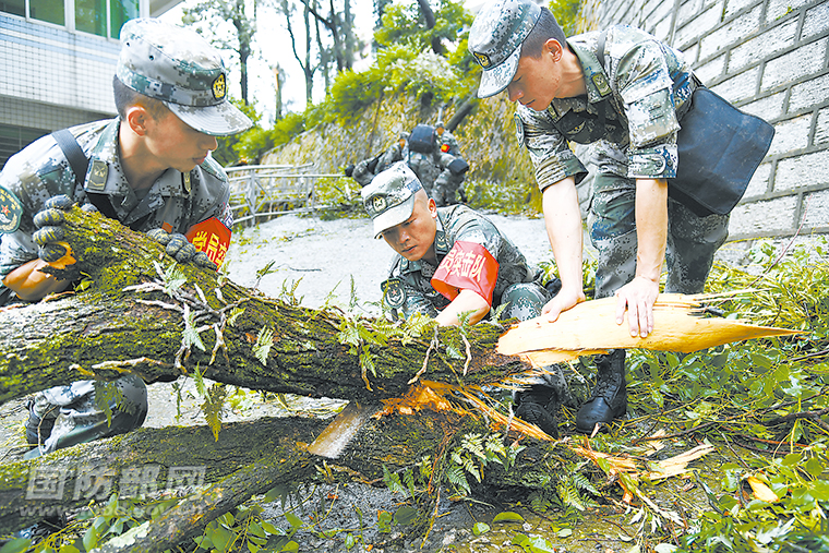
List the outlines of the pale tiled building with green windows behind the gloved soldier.
<svg viewBox="0 0 829 553">
<path fill-rule="evenodd" d="M 121 26 L 180 0 L 0 0 L 0 168 L 58 129 L 111 118 Z"/>
</svg>

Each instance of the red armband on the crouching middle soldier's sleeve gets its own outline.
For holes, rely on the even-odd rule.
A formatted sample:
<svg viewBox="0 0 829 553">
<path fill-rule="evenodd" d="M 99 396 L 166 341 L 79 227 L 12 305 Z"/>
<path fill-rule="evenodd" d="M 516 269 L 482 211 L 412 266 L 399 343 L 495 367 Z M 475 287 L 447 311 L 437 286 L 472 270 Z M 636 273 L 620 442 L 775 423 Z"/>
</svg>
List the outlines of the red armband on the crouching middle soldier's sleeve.
<svg viewBox="0 0 829 553">
<path fill-rule="evenodd" d="M 449 300 L 460 290 L 472 290 L 492 306 L 498 262 L 477 242 L 455 242 L 432 277 L 432 287 Z"/>
</svg>

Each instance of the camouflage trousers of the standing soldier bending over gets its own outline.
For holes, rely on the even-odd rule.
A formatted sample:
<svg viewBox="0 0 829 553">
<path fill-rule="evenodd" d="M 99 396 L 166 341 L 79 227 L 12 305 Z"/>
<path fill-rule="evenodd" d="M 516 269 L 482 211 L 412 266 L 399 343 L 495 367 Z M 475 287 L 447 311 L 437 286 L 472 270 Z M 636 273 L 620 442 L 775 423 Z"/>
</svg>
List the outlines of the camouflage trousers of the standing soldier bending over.
<svg viewBox="0 0 829 553">
<path fill-rule="evenodd" d="M 596 298 L 613 296 L 636 274 L 636 181 L 599 175 L 588 214 L 590 241 L 599 251 Z M 713 255 L 729 236 L 729 216 L 699 217 L 678 202 L 668 200 L 665 292 L 699 293 L 713 264 Z"/>
</svg>

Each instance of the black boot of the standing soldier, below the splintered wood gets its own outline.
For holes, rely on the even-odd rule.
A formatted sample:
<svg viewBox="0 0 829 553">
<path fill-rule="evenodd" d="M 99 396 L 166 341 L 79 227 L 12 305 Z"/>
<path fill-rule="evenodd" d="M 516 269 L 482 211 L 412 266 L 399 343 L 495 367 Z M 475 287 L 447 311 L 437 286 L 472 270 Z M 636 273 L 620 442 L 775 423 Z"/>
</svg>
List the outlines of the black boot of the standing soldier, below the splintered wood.
<svg viewBox="0 0 829 553">
<path fill-rule="evenodd" d="M 585 434 L 592 433 L 597 423 L 606 424 L 627 411 L 625 350 L 614 349 L 596 356 L 596 365 L 598 372 L 592 396 L 576 414 L 576 430 Z"/>
</svg>

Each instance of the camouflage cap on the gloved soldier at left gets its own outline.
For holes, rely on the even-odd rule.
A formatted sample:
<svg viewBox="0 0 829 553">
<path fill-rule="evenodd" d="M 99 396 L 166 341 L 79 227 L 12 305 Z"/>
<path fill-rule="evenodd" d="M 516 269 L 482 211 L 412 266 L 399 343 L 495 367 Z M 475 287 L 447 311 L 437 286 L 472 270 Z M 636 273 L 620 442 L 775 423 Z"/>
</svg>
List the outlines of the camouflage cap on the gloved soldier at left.
<svg viewBox="0 0 829 553">
<path fill-rule="evenodd" d="M 227 99 L 219 51 L 190 28 L 149 17 L 128 21 L 116 76 L 205 134 L 227 136 L 253 124 Z"/>
</svg>

